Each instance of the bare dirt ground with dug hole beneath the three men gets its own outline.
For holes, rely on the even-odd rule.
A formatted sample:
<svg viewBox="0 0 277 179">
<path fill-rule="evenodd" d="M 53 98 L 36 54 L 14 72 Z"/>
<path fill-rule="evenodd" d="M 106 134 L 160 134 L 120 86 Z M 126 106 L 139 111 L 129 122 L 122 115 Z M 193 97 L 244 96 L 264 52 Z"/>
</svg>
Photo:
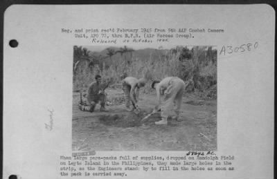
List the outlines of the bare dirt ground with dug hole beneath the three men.
<svg viewBox="0 0 277 179">
<path fill-rule="evenodd" d="M 141 111 L 127 111 L 121 89 L 107 89 L 107 109 L 80 111 L 80 93 L 73 93 L 73 151 L 214 151 L 217 149 L 217 102 L 183 97 L 179 120 L 155 125 L 160 113 L 151 113 L 156 95 L 141 94 Z"/>
</svg>

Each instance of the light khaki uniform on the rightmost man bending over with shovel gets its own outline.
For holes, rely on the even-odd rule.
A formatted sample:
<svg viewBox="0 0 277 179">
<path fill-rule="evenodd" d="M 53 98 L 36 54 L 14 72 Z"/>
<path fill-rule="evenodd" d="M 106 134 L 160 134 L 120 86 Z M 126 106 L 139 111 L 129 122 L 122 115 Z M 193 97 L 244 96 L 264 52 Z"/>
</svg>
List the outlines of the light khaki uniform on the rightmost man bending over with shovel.
<svg viewBox="0 0 277 179">
<path fill-rule="evenodd" d="M 184 88 L 184 81 L 179 77 L 166 77 L 157 84 L 156 92 L 161 105 L 161 118 L 167 120 L 172 106 L 174 106 L 175 117 L 179 117 Z"/>
</svg>

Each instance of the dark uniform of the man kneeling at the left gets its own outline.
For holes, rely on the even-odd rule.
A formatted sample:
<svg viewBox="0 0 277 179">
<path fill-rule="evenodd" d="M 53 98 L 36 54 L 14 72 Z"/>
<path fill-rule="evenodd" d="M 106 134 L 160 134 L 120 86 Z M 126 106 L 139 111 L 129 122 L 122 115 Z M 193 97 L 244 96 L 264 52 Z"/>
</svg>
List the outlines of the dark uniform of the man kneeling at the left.
<svg viewBox="0 0 277 179">
<path fill-rule="evenodd" d="M 101 109 L 105 109 L 107 93 L 102 90 L 106 87 L 107 84 L 92 83 L 87 90 L 87 106 L 82 106 L 82 111 L 93 112 L 98 102 L 100 102 Z"/>
</svg>

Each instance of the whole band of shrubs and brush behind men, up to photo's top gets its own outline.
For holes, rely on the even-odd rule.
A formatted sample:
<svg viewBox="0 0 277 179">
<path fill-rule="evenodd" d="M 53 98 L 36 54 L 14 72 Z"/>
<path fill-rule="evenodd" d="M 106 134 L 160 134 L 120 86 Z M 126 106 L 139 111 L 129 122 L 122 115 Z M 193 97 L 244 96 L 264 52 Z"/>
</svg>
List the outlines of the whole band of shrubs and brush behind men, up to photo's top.
<svg viewBox="0 0 277 179">
<path fill-rule="evenodd" d="M 113 50 L 113 55 L 109 53 L 109 56 L 94 58 L 94 61 L 87 55 L 87 49 L 85 53 L 80 52 L 80 47 L 74 49 L 73 63 L 78 62 L 78 68 L 73 72 L 74 88 L 86 88 L 98 74 L 104 80 L 110 79 L 111 84 L 118 84 L 124 77 L 132 76 L 138 79 L 144 77 L 147 84 L 143 92 L 149 93 L 154 79 L 177 76 L 186 82 L 187 93 L 197 91 L 199 97 L 216 98 L 217 51 L 211 46 L 194 46 L 191 50 L 178 46 L 171 50 L 174 53 L 147 48 L 125 50 L 125 53 L 121 50 L 120 54 L 116 54 L 116 50 Z M 128 48 L 125 46 L 124 49 Z M 108 50 L 111 51 L 110 48 Z M 93 62 L 98 64 L 89 65 Z"/>
</svg>

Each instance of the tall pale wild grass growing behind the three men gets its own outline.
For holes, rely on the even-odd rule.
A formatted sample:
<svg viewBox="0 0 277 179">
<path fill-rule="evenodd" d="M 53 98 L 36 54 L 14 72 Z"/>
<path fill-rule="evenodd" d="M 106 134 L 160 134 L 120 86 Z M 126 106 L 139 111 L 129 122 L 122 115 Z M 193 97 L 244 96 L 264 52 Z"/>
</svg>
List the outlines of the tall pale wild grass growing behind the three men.
<svg viewBox="0 0 277 179">
<path fill-rule="evenodd" d="M 199 97 L 205 97 L 209 90 L 213 88 L 216 98 L 215 85 L 217 83 L 217 67 L 211 60 L 215 57 L 207 57 L 206 48 L 196 48 L 192 51 L 190 59 L 181 59 L 180 52 L 176 55 L 159 54 L 159 51 L 150 53 L 148 58 L 139 59 L 134 55 L 123 55 L 107 58 L 102 60 L 100 65 L 89 67 L 87 61 L 82 61 L 73 75 L 74 88 L 87 88 L 91 82 L 94 82 L 95 75 L 101 75 L 104 81 L 111 80 L 111 84 L 118 84 L 125 76 L 132 76 L 136 78 L 145 78 L 147 84 L 143 88 L 143 93 L 149 93 L 152 81 L 154 79 L 161 80 L 164 77 L 177 76 L 187 82 L 187 92 L 196 93 Z M 199 55 L 202 54 L 202 55 Z M 205 54 L 205 55 L 203 55 Z M 74 59 L 74 62 L 78 59 Z M 205 62 L 205 63 L 203 63 Z M 102 70 L 100 69 L 102 68 Z M 190 83 L 192 83 L 190 85 Z M 212 87 L 213 86 L 213 87 Z"/>
</svg>

